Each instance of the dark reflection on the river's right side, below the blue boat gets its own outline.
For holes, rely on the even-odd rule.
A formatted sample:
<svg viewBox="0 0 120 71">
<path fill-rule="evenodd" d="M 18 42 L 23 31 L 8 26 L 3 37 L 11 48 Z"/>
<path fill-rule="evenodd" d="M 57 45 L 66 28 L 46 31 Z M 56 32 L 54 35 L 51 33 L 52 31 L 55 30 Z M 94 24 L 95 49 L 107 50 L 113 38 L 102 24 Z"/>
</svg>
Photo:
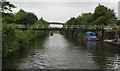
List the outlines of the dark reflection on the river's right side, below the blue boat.
<svg viewBox="0 0 120 71">
<path fill-rule="evenodd" d="M 85 34 L 85 33 L 84 33 Z M 94 64 L 99 69 L 115 69 L 119 68 L 119 64 L 115 64 L 116 61 L 120 60 L 120 49 L 107 45 L 103 41 L 84 41 L 82 38 L 76 36 L 77 38 L 72 40 L 75 45 L 79 45 L 81 49 L 90 52 L 88 55 L 93 59 Z M 70 38 L 66 37 L 69 41 Z M 79 43 L 78 43 L 79 42 Z M 76 44 L 77 43 L 77 44 Z M 81 44 L 82 43 L 82 44 Z M 83 45 L 86 44 L 86 45 Z M 116 58 L 117 55 L 117 58 Z M 117 62 L 118 63 L 118 62 Z"/>
</svg>

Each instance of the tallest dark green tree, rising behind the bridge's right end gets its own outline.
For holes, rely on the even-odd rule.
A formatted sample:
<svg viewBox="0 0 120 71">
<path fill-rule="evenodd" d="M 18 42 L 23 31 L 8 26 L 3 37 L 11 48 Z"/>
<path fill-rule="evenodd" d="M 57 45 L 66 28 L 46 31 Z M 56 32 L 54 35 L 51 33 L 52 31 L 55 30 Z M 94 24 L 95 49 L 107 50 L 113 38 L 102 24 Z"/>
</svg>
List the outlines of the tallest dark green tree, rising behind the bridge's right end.
<svg viewBox="0 0 120 71">
<path fill-rule="evenodd" d="M 117 19 L 114 13 L 114 10 L 108 9 L 104 5 L 97 6 L 94 11 L 94 20 L 96 20 L 96 24 L 115 24 L 115 20 Z"/>
</svg>

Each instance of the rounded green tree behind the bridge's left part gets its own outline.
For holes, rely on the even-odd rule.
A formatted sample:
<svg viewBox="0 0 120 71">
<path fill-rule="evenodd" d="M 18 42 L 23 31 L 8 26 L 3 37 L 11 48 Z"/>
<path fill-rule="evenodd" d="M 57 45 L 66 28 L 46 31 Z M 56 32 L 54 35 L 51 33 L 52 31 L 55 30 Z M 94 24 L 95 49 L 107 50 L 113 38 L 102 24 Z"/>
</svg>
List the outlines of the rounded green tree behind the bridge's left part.
<svg viewBox="0 0 120 71">
<path fill-rule="evenodd" d="M 30 12 L 25 12 L 24 10 L 20 9 L 19 12 L 15 15 L 15 22 L 17 24 L 34 24 L 35 21 L 37 21 L 38 18 L 35 14 Z"/>
</svg>

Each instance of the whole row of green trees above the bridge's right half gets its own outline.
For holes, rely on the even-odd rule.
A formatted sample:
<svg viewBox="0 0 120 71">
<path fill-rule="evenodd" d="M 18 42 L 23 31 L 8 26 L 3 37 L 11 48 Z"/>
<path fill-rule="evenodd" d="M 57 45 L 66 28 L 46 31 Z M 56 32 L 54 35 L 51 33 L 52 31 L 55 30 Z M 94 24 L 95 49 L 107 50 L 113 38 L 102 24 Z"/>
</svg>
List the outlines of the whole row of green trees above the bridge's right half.
<svg viewBox="0 0 120 71">
<path fill-rule="evenodd" d="M 72 17 L 69 19 L 67 25 L 120 25 L 120 20 L 117 20 L 113 9 L 99 4 L 94 13 L 82 13 L 77 18 Z"/>
</svg>

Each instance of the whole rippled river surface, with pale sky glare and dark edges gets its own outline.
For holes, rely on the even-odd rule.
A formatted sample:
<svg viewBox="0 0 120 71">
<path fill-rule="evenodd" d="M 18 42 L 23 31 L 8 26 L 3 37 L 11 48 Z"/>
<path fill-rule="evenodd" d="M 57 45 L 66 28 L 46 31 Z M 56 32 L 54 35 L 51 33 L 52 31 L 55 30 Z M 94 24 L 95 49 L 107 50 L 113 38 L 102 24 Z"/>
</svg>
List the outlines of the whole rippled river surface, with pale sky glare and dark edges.
<svg viewBox="0 0 120 71">
<path fill-rule="evenodd" d="M 116 69 L 119 47 L 54 33 L 37 39 L 15 56 L 3 60 L 5 69 Z"/>
</svg>

